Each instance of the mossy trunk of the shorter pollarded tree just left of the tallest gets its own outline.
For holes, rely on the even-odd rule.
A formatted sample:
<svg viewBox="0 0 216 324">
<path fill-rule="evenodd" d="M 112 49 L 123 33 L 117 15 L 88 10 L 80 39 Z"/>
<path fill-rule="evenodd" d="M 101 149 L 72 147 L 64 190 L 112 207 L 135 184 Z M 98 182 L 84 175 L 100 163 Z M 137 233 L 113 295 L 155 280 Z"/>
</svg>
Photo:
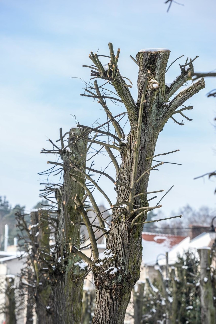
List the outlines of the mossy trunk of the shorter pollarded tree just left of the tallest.
<svg viewBox="0 0 216 324">
<path fill-rule="evenodd" d="M 74 209 L 74 197 L 82 200 L 84 189 L 77 182 L 71 180 L 75 171 L 71 169 L 73 163 L 83 163 L 86 160 L 86 142 L 78 141 L 79 128 L 70 129 L 68 146 L 62 150 L 61 158 L 64 162 L 64 181 L 62 197 L 59 199 L 60 215 L 58 234 L 55 247 L 55 265 L 51 274 L 54 301 L 54 324 L 77 324 L 81 322 L 81 306 L 83 281 L 86 269 L 82 268 L 81 259 L 70 253 L 70 244 L 79 247 L 81 220 L 79 212 Z M 84 179 L 80 182 L 83 183 Z"/>
</svg>

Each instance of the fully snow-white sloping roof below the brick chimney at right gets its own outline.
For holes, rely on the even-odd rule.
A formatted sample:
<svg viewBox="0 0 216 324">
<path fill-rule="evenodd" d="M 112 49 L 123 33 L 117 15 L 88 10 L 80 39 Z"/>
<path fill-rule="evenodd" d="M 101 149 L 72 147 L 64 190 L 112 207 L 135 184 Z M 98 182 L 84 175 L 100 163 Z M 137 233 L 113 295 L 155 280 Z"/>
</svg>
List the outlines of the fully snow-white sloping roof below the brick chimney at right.
<svg viewBox="0 0 216 324">
<path fill-rule="evenodd" d="M 178 245 L 174 246 L 169 252 L 168 252 L 168 263 L 175 264 L 178 261 L 178 255 L 182 257 L 182 255 L 190 251 L 196 255 L 196 257 L 199 259 L 199 255 L 197 253 L 197 249 L 202 249 L 209 247 L 211 245 L 211 237 L 209 233 L 202 233 L 198 235 L 197 237 L 190 240 L 190 237 L 186 237 L 183 241 L 181 241 Z M 166 260 L 165 258 L 162 258 L 158 261 L 159 265 L 165 265 Z"/>
</svg>

